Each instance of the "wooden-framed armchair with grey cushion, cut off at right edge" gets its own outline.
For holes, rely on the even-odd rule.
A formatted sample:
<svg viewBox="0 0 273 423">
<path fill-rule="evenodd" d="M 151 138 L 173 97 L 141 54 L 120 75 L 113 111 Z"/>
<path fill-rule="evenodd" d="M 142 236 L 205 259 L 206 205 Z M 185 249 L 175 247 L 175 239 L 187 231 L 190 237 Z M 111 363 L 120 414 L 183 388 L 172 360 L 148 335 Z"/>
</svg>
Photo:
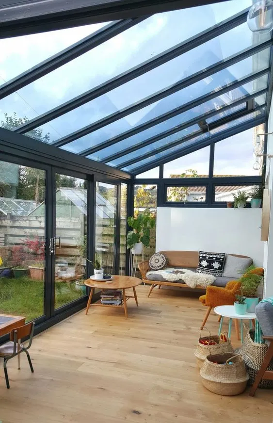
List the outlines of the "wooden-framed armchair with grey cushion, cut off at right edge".
<svg viewBox="0 0 273 423">
<path fill-rule="evenodd" d="M 263 332 L 263 339 L 268 344 L 268 350 L 263 359 L 262 365 L 257 373 L 255 382 L 249 392 L 253 396 L 262 379 L 273 380 L 273 370 L 267 370 L 271 360 L 273 359 L 273 305 L 270 302 L 260 302 L 255 309 L 257 321 Z"/>
</svg>

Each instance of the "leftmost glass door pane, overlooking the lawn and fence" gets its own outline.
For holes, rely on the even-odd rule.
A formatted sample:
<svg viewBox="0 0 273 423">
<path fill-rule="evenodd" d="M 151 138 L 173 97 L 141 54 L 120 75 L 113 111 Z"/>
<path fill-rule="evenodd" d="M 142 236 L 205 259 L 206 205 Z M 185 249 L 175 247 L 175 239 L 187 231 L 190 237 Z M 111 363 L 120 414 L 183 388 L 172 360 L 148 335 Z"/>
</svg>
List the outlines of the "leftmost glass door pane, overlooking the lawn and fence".
<svg viewBox="0 0 273 423">
<path fill-rule="evenodd" d="M 27 321 L 44 314 L 45 195 L 44 170 L 0 162 L 0 313 Z"/>
</svg>

